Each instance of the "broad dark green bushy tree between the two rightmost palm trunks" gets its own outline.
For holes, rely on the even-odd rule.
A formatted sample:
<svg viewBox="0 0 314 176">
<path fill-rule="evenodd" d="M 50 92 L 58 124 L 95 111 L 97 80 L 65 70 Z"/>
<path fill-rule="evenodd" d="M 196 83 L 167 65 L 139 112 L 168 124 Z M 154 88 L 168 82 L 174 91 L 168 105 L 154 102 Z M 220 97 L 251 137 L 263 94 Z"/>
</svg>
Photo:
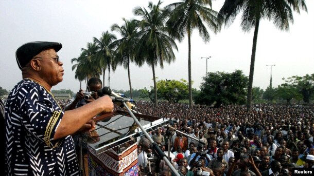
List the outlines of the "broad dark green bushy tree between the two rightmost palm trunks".
<svg viewBox="0 0 314 176">
<path fill-rule="evenodd" d="M 210 72 L 203 77 L 196 104 L 215 104 L 215 107 L 246 103 L 248 77 L 241 70 L 233 73 Z"/>
</svg>

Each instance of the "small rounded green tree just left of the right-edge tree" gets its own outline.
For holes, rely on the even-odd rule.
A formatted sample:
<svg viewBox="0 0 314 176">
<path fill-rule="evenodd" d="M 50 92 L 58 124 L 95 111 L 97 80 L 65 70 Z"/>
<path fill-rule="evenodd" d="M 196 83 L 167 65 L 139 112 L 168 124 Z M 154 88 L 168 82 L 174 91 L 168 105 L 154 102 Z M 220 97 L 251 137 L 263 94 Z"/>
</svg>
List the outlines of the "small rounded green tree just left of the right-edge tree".
<svg viewBox="0 0 314 176">
<path fill-rule="evenodd" d="M 298 89 L 287 83 L 278 86 L 276 94 L 278 97 L 286 100 L 287 104 L 289 104 L 292 99 L 302 100 L 302 95 L 298 92 Z"/>
</svg>

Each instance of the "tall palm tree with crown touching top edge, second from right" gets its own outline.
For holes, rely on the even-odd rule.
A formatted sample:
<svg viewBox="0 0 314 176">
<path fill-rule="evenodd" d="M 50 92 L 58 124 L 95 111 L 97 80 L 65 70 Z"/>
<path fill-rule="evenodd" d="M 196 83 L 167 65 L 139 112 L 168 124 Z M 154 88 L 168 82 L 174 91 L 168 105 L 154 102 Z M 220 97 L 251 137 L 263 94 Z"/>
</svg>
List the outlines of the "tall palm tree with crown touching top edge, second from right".
<svg viewBox="0 0 314 176">
<path fill-rule="evenodd" d="M 210 6 L 210 8 L 206 7 Z M 183 40 L 185 34 L 188 38 L 188 92 L 189 108 L 193 108 L 192 99 L 192 76 L 191 76 L 191 34 L 193 29 L 198 29 L 204 42 L 210 41 L 210 34 L 206 26 L 216 34 L 220 31 L 221 23 L 217 17 L 218 12 L 212 9 L 211 0 L 183 0 L 173 3 L 166 8 L 171 11 L 167 22 L 169 33 L 179 41 Z"/>
</svg>

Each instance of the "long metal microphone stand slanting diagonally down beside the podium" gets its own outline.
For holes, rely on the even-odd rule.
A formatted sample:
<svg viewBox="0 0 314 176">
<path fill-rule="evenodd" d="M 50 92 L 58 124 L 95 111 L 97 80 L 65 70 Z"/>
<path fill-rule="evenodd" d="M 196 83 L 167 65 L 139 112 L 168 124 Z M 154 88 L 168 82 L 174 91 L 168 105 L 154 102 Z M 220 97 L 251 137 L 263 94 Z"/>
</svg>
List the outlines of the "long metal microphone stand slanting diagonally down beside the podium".
<svg viewBox="0 0 314 176">
<path fill-rule="evenodd" d="M 131 109 L 128 107 L 128 105 L 126 104 L 125 101 L 121 101 L 122 104 L 124 105 L 124 107 L 128 110 L 129 114 L 131 115 L 131 117 L 133 118 L 134 122 L 138 125 L 139 128 L 141 128 L 142 132 L 144 133 L 144 135 L 146 136 L 146 138 L 149 140 L 149 142 L 153 145 L 153 149 L 158 153 L 159 157 L 162 158 L 166 164 L 168 165 L 168 167 L 171 169 L 171 171 L 173 173 L 175 173 L 175 175 L 180 176 L 180 174 L 178 173 L 178 171 L 175 169 L 175 167 L 172 166 L 172 164 L 170 163 L 170 161 L 167 159 L 166 154 L 159 148 L 158 144 L 155 143 L 149 136 L 149 134 L 147 133 L 147 131 L 144 129 L 144 127 L 141 125 L 141 123 L 137 120 L 137 118 L 135 117 L 135 115 L 133 114 L 133 112 L 131 111 Z M 168 151 L 169 153 L 169 151 Z"/>
</svg>

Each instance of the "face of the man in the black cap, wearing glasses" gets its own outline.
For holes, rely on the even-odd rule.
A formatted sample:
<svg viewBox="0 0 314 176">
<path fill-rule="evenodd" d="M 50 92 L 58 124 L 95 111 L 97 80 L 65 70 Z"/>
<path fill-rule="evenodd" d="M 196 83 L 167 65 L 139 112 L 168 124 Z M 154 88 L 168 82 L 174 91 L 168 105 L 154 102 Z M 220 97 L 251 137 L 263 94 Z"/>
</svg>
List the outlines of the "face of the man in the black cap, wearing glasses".
<svg viewBox="0 0 314 176">
<path fill-rule="evenodd" d="M 57 62 L 55 60 L 57 57 L 58 54 L 55 49 L 50 48 L 40 52 L 32 59 L 38 61 L 40 68 L 39 74 L 49 86 L 55 86 L 63 80 L 63 63 L 61 61 Z M 32 60 L 30 62 L 35 62 Z"/>
</svg>

